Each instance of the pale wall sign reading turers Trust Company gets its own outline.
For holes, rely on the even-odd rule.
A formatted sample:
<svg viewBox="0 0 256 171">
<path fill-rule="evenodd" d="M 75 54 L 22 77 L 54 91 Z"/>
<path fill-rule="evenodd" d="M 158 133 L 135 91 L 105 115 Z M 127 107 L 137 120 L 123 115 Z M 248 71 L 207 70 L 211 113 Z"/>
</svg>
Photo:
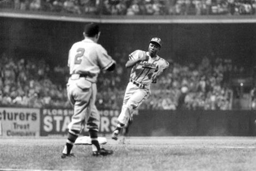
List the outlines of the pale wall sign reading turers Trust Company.
<svg viewBox="0 0 256 171">
<path fill-rule="evenodd" d="M 0 107 L 0 135 L 39 136 L 40 110 Z"/>
</svg>

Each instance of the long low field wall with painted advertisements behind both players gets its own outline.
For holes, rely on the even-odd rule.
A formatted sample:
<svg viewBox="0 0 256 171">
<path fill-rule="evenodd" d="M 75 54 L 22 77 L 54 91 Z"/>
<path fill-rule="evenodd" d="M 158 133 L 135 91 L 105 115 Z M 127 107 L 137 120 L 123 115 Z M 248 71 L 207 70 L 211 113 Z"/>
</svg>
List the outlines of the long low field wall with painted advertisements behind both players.
<svg viewBox="0 0 256 171">
<path fill-rule="evenodd" d="M 100 134 L 111 134 L 119 111 L 99 112 Z M 0 107 L 0 136 L 65 136 L 72 114 L 71 109 Z M 256 136 L 255 111 L 139 110 L 133 118 L 129 136 Z"/>
</svg>

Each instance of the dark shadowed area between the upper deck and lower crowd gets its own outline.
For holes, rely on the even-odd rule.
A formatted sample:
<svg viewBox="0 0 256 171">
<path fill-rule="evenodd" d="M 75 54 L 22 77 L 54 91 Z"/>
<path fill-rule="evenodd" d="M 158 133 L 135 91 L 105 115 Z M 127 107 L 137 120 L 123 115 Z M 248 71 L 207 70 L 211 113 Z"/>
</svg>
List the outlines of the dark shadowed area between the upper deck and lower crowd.
<svg viewBox="0 0 256 171">
<path fill-rule="evenodd" d="M 1 23 L 2 50 L 41 54 L 53 65 L 66 65 L 72 42 L 83 39 L 81 22 L 1 17 Z M 159 36 L 164 43 L 160 55 L 179 63 L 199 63 L 215 53 L 248 69 L 255 65 L 255 23 L 101 23 L 101 30 L 99 43 L 111 55 L 115 49 L 147 49 L 150 37 Z"/>
</svg>

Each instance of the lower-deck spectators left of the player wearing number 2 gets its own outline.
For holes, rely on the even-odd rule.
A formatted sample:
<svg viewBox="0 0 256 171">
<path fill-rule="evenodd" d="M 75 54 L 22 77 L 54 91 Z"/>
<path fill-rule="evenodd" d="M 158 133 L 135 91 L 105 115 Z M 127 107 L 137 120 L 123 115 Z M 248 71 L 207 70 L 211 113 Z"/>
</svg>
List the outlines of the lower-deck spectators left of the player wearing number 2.
<svg viewBox="0 0 256 171">
<path fill-rule="evenodd" d="M 1 56 L 0 103 L 3 106 L 69 106 L 66 90 L 54 84 L 50 67 L 42 60 Z"/>
</svg>

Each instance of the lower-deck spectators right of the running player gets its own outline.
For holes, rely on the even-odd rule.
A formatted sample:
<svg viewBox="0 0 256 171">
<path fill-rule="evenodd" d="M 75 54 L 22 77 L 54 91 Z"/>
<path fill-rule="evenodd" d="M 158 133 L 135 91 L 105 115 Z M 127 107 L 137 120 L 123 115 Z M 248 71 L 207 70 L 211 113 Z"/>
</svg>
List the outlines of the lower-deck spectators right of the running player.
<svg viewBox="0 0 256 171">
<path fill-rule="evenodd" d="M 144 104 L 145 108 L 229 110 L 233 92 L 226 81 L 231 71 L 230 61 L 222 59 L 211 64 L 205 57 L 198 66 L 175 64 L 173 72 L 152 87 L 153 96 Z"/>
</svg>

